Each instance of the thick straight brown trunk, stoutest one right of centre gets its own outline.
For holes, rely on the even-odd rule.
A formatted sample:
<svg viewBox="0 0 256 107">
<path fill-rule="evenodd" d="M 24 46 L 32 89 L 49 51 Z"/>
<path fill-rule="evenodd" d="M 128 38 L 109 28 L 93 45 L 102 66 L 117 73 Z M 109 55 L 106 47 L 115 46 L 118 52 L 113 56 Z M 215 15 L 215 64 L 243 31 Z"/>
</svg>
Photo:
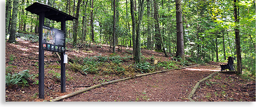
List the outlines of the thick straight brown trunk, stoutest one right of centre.
<svg viewBox="0 0 256 107">
<path fill-rule="evenodd" d="M 182 0 L 175 0 L 176 5 L 176 29 L 177 29 L 177 52 L 176 56 L 184 58 L 184 38 L 183 38 L 183 22 L 182 22 Z"/>
</svg>

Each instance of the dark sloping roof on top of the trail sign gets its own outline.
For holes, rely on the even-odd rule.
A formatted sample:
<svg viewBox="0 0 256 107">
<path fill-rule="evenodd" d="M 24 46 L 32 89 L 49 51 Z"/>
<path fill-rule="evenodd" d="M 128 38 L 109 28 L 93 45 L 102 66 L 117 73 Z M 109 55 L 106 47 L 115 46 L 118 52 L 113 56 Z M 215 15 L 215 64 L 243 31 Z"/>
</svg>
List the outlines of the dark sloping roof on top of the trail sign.
<svg viewBox="0 0 256 107">
<path fill-rule="evenodd" d="M 25 10 L 30 11 L 33 14 L 39 15 L 40 12 L 45 12 L 45 17 L 50 20 L 55 20 L 57 22 L 60 22 L 62 18 L 65 18 L 65 20 L 74 20 L 77 19 L 76 17 L 73 17 L 71 15 L 68 15 L 60 10 L 57 10 L 50 5 L 41 4 L 38 2 L 33 3 L 32 5 L 28 6 Z"/>
</svg>

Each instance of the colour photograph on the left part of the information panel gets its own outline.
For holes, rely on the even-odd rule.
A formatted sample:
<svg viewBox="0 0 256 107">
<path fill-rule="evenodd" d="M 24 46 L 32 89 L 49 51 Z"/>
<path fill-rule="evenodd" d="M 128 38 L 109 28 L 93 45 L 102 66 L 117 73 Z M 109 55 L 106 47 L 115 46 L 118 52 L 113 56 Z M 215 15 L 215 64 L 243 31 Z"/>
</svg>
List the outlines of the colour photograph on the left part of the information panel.
<svg viewBox="0 0 256 107">
<path fill-rule="evenodd" d="M 55 31 L 43 29 L 43 43 L 55 44 Z"/>
</svg>

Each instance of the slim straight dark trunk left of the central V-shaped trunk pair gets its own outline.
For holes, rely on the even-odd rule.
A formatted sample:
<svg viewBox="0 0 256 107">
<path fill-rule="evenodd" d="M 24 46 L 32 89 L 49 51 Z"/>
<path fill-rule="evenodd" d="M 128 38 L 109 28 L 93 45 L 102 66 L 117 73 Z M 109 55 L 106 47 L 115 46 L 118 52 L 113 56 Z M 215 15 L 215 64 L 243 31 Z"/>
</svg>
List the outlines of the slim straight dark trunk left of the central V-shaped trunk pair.
<svg viewBox="0 0 256 107">
<path fill-rule="evenodd" d="M 116 0 L 113 0 L 113 53 L 115 53 L 116 48 Z"/>
</svg>

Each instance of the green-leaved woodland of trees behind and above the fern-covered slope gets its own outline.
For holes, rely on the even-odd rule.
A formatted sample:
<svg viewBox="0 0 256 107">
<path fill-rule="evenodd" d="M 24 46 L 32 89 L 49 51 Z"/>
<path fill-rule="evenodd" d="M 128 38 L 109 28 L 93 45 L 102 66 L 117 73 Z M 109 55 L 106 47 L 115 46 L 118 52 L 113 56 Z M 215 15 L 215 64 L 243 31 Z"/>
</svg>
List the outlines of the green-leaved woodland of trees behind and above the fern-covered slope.
<svg viewBox="0 0 256 107">
<path fill-rule="evenodd" d="M 5 40 L 15 42 L 15 32 L 38 33 L 39 17 L 25 10 L 34 2 L 78 19 L 66 27 L 75 47 L 95 42 L 115 52 L 115 46 L 133 46 L 135 61 L 141 49 L 205 62 L 232 56 L 255 74 L 255 0 L 5 0 Z M 60 29 L 60 22 L 45 25 Z"/>
</svg>

